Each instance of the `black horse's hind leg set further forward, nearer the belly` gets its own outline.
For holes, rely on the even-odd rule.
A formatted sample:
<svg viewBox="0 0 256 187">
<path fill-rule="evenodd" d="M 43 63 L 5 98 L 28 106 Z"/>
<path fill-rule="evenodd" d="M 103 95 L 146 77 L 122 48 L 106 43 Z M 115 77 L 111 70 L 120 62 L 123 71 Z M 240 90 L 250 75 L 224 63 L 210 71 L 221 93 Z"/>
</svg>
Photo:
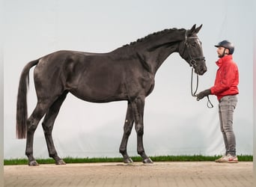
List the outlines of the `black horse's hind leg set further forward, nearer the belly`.
<svg viewBox="0 0 256 187">
<path fill-rule="evenodd" d="M 52 140 L 52 129 L 55 122 L 55 118 L 57 117 L 58 111 L 60 110 L 61 104 L 64 102 L 66 96 L 67 92 L 63 93 L 61 96 L 58 97 L 58 99 L 55 102 L 53 102 L 53 104 L 49 108 L 49 111 L 47 111 L 46 117 L 44 117 L 42 123 L 49 156 L 52 157 L 52 159 L 55 159 L 56 165 L 66 164 L 61 158 L 58 157 L 58 153 L 55 150 L 55 146 Z"/>
</svg>

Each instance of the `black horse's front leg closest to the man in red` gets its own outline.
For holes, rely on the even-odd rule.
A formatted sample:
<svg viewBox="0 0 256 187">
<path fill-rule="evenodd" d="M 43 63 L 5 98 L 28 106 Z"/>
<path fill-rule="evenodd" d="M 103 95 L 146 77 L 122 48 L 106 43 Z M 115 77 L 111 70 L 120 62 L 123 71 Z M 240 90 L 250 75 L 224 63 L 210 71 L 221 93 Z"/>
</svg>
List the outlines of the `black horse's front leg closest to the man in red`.
<svg viewBox="0 0 256 187">
<path fill-rule="evenodd" d="M 137 132 L 137 152 L 142 157 L 143 163 L 151 164 L 152 160 L 146 155 L 143 146 L 143 134 L 144 134 L 144 124 L 143 124 L 143 115 L 144 115 L 144 96 L 138 97 L 135 99 L 135 102 L 132 102 L 132 113 L 135 119 L 135 130 Z"/>
</svg>

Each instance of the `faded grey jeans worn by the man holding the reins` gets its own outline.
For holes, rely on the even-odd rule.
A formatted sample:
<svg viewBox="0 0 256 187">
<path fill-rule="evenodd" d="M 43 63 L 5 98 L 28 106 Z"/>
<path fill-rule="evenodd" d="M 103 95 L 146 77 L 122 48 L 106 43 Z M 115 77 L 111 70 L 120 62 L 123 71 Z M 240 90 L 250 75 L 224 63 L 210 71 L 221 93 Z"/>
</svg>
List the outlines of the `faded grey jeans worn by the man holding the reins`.
<svg viewBox="0 0 256 187">
<path fill-rule="evenodd" d="M 219 121 L 224 138 L 226 155 L 236 155 L 236 137 L 233 131 L 233 114 L 237 106 L 237 95 L 223 96 L 219 100 Z"/>
</svg>

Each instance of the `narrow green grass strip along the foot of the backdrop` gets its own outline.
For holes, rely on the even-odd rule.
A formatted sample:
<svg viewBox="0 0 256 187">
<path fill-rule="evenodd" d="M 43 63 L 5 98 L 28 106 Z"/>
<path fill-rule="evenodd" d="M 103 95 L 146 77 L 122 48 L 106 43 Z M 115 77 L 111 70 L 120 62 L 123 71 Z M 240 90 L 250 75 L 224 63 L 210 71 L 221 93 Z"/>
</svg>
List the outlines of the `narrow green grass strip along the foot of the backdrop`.
<svg viewBox="0 0 256 187">
<path fill-rule="evenodd" d="M 219 159 L 221 156 L 150 156 L 153 162 L 207 162 Z M 237 156 L 240 162 L 252 162 L 253 156 L 241 155 Z M 132 156 L 133 162 L 141 162 L 140 156 Z M 67 164 L 70 163 L 97 163 L 97 162 L 123 162 L 123 158 L 71 158 L 63 159 Z M 42 164 L 55 164 L 53 159 L 37 159 Z M 4 165 L 28 165 L 28 159 L 4 159 Z"/>
</svg>

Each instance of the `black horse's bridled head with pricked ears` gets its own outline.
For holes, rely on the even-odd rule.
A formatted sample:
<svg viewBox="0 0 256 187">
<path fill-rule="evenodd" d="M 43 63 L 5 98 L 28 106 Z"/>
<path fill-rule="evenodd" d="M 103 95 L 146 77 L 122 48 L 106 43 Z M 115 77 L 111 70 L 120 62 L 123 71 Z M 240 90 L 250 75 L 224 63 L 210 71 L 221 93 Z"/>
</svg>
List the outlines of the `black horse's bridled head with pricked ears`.
<svg viewBox="0 0 256 187">
<path fill-rule="evenodd" d="M 180 56 L 194 68 L 198 75 L 203 75 L 207 71 L 201 41 L 197 36 L 201 27 L 202 25 L 195 28 L 193 25 L 191 29 L 186 30 L 184 40 L 179 47 Z"/>
</svg>

